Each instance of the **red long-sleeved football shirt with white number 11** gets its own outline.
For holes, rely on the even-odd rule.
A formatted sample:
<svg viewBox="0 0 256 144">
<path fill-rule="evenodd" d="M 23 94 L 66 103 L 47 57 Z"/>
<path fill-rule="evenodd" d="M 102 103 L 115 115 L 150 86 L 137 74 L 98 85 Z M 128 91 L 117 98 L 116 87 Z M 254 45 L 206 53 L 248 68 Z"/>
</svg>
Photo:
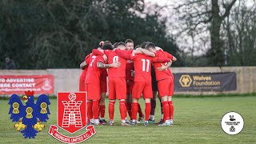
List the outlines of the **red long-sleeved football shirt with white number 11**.
<svg viewBox="0 0 256 144">
<path fill-rule="evenodd" d="M 152 58 L 146 54 L 135 54 L 134 56 L 117 51 L 122 58 L 134 61 L 134 82 L 150 82 L 151 81 L 151 63 L 152 62 L 170 62 L 169 58 Z"/>
</svg>

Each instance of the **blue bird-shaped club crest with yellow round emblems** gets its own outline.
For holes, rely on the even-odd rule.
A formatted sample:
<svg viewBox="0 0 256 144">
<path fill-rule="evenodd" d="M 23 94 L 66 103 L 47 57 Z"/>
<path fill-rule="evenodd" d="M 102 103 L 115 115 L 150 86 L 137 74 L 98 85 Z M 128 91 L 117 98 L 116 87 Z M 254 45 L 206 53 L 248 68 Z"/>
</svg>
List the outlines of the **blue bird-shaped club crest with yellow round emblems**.
<svg viewBox="0 0 256 144">
<path fill-rule="evenodd" d="M 10 119 L 12 122 L 18 122 L 14 127 L 22 133 L 24 138 L 35 138 L 38 131 L 45 128 L 40 122 L 46 122 L 49 119 L 50 101 L 46 94 L 41 94 L 34 104 L 34 91 L 26 91 L 25 94 L 26 96 L 22 98 L 23 101 L 26 101 L 25 106 L 17 94 L 10 97 L 8 102 Z"/>
</svg>

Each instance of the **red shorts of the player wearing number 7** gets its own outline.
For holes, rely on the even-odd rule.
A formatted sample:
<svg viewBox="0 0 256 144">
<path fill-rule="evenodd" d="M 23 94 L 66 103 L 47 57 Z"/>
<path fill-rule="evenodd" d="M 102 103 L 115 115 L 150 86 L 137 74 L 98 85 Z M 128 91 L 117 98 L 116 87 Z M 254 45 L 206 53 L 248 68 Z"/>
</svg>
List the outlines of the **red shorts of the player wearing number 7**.
<svg viewBox="0 0 256 144">
<path fill-rule="evenodd" d="M 86 92 L 88 100 L 100 100 L 101 98 L 101 90 L 99 84 L 95 83 L 86 83 Z"/>
</svg>

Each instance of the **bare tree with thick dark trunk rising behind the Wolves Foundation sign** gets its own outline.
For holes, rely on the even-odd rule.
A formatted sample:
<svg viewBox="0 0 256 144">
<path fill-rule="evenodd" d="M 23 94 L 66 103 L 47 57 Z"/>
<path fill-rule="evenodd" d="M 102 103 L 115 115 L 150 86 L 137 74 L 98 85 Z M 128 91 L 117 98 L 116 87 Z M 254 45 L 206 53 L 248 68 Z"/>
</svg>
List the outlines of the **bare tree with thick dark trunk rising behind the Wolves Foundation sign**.
<svg viewBox="0 0 256 144">
<path fill-rule="evenodd" d="M 209 34 L 210 50 L 206 56 L 210 66 L 224 65 L 220 31 L 235 2 L 237 0 L 183 0 L 173 6 L 177 27 L 180 29 L 179 36 L 193 34 L 195 38 L 198 34 L 206 37 Z"/>
</svg>

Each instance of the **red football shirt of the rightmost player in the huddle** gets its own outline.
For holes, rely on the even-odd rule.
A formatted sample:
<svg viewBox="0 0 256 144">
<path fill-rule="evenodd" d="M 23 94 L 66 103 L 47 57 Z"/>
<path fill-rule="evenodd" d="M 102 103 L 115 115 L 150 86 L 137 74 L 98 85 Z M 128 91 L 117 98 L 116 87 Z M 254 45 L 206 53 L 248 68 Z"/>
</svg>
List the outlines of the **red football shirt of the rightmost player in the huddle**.
<svg viewBox="0 0 256 144">
<path fill-rule="evenodd" d="M 171 60 L 173 60 L 173 55 L 162 50 L 156 51 L 155 56 L 160 58 L 170 58 Z M 159 71 L 158 67 L 161 67 L 161 64 L 165 65 L 166 63 L 161 63 L 161 62 L 154 63 L 154 71 L 155 71 L 155 76 L 157 81 L 160 81 L 166 78 L 171 78 L 171 75 L 172 75 L 170 69 Z"/>
</svg>

